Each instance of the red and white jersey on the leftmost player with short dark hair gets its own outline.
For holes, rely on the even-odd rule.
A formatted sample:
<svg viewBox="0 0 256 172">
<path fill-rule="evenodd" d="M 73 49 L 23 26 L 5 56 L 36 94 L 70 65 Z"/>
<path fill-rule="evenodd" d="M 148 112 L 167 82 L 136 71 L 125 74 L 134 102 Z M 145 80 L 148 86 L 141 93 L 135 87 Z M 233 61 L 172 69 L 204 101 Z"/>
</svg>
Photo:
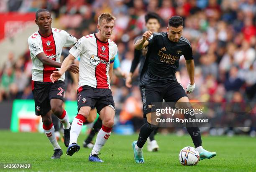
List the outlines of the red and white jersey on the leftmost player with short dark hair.
<svg viewBox="0 0 256 172">
<path fill-rule="evenodd" d="M 51 29 L 52 33 L 48 37 L 41 36 L 39 31 L 36 31 L 36 33 L 33 33 L 33 35 L 28 38 L 28 46 L 33 64 L 33 81 L 51 82 L 51 73 L 57 70 L 57 68 L 44 65 L 36 58 L 36 55 L 45 53 L 48 58 L 60 63 L 62 48 L 72 46 L 77 42 L 77 38 L 69 35 L 65 30 Z M 65 74 L 59 78 L 61 81 L 64 81 L 64 79 Z"/>
</svg>

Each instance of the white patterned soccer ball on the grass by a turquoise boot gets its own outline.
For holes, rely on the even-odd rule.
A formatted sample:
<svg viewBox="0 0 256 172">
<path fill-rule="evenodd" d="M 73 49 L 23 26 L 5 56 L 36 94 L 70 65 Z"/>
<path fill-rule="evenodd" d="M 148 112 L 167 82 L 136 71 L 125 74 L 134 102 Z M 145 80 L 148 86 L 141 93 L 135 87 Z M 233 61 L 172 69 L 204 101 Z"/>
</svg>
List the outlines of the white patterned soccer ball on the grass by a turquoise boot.
<svg viewBox="0 0 256 172">
<path fill-rule="evenodd" d="M 179 162 L 182 165 L 196 165 L 199 159 L 199 152 L 194 147 L 184 147 L 179 152 Z"/>
</svg>

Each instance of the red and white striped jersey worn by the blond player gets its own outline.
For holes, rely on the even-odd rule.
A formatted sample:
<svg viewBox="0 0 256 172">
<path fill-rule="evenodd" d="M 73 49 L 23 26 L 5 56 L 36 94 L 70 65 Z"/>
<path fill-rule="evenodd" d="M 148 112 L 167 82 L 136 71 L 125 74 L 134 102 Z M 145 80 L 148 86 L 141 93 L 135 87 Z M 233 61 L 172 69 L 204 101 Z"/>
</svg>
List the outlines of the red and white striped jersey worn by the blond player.
<svg viewBox="0 0 256 172">
<path fill-rule="evenodd" d="M 99 89 L 110 89 L 108 71 L 114 62 L 117 45 L 110 39 L 103 42 L 95 34 L 79 39 L 69 50 L 75 58 L 80 56 L 79 87 L 91 86 Z"/>
</svg>

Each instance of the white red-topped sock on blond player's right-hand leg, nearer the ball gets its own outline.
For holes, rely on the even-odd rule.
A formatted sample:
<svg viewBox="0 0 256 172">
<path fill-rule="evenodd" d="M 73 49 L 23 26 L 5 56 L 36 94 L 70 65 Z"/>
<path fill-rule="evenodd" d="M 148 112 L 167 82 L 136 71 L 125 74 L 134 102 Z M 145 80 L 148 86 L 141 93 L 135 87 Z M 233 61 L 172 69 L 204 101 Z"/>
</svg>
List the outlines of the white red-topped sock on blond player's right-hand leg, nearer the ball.
<svg viewBox="0 0 256 172">
<path fill-rule="evenodd" d="M 94 147 L 92 148 L 92 152 L 90 156 L 93 154 L 99 154 L 100 149 L 104 146 L 104 144 L 107 142 L 108 138 L 110 137 L 111 129 L 112 128 L 102 125 L 102 128 L 97 134 L 96 142 L 94 144 Z"/>
</svg>

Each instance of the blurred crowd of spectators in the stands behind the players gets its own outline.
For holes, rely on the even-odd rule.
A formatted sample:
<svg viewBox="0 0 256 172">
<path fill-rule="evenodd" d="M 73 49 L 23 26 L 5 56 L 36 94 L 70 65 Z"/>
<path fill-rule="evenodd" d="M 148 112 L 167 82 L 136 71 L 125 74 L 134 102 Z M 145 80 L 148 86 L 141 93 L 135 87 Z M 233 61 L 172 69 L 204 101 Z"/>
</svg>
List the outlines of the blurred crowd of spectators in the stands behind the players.
<svg viewBox="0 0 256 172">
<path fill-rule="evenodd" d="M 118 46 L 121 70 L 128 73 L 134 38 L 146 31 L 144 15 L 153 11 L 165 32 L 172 15 L 184 19 L 183 36 L 192 45 L 195 60 L 194 92 L 200 102 L 256 102 L 256 3 L 254 0 L 1 0 L 0 12 L 36 12 L 47 8 L 54 25 L 76 38 L 97 32 L 97 17 L 110 12 L 117 19 L 113 40 Z M 31 33 L 32 34 L 32 33 Z M 23 40 L 24 43 L 27 40 Z M 67 54 L 67 49 L 64 49 Z M 66 56 L 65 53 L 63 53 Z M 181 84 L 189 82 L 184 58 L 180 59 Z M 67 74 L 71 76 L 70 74 Z M 32 99 L 29 51 L 18 59 L 10 52 L 0 71 L 0 101 Z M 127 116 L 142 116 L 138 72 L 133 89 L 113 78 L 111 89 L 117 109 Z M 76 79 L 67 78 L 67 100 L 76 100 Z"/>
</svg>

